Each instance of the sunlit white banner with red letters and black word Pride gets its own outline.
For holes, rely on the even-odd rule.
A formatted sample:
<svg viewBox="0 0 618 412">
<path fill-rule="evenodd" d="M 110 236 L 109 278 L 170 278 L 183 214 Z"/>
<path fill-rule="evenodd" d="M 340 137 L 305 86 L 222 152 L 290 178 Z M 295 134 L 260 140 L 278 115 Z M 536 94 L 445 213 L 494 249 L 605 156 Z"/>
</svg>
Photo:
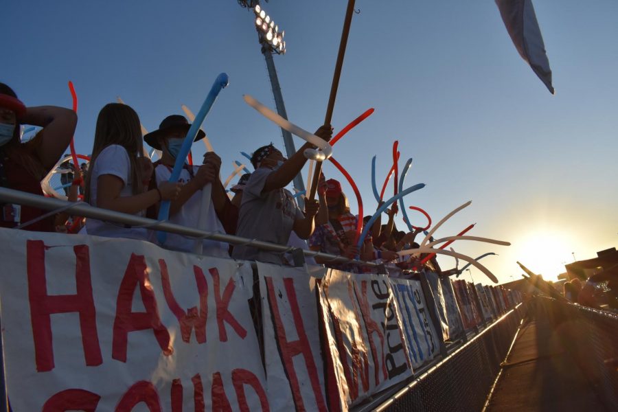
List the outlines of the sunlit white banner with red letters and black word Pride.
<svg viewBox="0 0 618 412">
<path fill-rule="evenodd" d="M 330 269 L 321 290 L 352 405 L 412 375 L 388 276 Z"/>
</svg>

